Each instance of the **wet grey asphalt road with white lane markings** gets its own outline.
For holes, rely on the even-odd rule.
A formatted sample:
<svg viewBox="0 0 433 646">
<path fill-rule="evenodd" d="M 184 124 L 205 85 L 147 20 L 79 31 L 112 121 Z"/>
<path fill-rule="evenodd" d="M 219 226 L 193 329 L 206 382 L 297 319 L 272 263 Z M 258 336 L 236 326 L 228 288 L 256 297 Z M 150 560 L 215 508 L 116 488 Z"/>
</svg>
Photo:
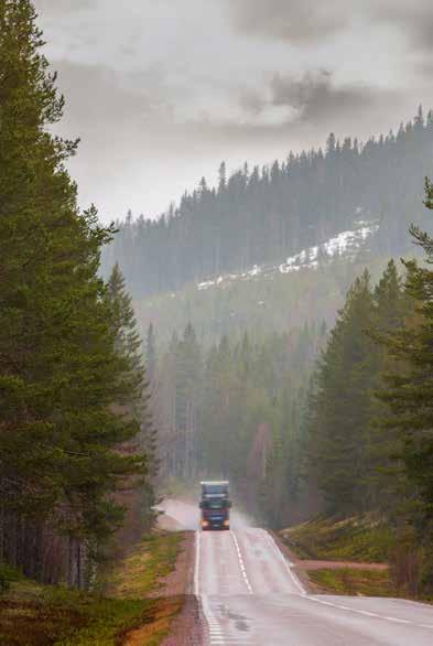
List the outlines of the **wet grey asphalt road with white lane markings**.
<svg viewBox="0 0 433 646">
<path fill-rule="evenodd" d="M 167 500 L 181 527 L 198 509 Z M 195 594 L 208 642 L 250 646 L 427 646 L 433 609 L 397 599 L 310 595 L 272 537 L 234 517 L 231 531 L 196 535 Z"/>
</svg>

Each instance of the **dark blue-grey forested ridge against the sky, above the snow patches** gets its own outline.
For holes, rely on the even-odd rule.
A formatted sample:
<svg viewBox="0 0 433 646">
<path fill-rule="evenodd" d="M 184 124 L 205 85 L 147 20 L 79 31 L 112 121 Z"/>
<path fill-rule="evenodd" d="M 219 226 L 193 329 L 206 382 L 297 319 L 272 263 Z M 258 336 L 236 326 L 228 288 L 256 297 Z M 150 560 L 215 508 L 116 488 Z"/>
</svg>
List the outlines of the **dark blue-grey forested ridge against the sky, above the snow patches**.
<svg viewBox="0 0 433 646">
<path fill-rule="evenodd" d="M 253 265 L 282 261 L 359 220 L 380 224 L 378 254 L 408 248 L 411 222 L 422 222 L 423 179 L 433 168 L 433 114 L 420 108 L 397 133 L 366 143 L 329 134 L 326 149 L 271 166 L 226 175 L 217 187 L 203 177 L 159 219 L 131 215 L 106 251 L 108 273 L 120 262 L 136 298 L 175 291 L 191 281 Z"/>
</svg>

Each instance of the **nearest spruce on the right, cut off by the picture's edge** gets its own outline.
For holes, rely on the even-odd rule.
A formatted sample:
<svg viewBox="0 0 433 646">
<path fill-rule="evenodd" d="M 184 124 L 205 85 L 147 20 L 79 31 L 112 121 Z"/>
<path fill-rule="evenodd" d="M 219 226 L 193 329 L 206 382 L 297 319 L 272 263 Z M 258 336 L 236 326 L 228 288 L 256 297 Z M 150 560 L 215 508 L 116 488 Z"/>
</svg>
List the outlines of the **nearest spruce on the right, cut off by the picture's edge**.
<svg viewBox="0 0 433 646">
<path fill-rule="evenodd" d="M 433 185 L 425 183 L 425 206 L 433 209 Z M 400 457 L 411 484 L 411 521 L 426 552 L 424 584 L 433 589 L 433 239 L 419 227 L 411 235 L 425 255 L 425 263 L 404 262 L 405 291 L 413 299 L 414 314 L 386 340 L 393 365 L 385 374 L 379 392 L 388 408 L 381 426 L 397 433 Z"/>
</svg>

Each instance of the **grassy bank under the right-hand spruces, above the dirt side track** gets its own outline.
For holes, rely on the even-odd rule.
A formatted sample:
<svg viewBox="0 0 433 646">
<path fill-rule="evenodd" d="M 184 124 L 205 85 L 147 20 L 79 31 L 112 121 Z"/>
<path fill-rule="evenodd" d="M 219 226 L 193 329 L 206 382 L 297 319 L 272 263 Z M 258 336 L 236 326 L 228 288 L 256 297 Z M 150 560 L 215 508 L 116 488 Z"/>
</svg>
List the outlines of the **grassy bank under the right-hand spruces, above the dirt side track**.
<svg viewBox="0 0 433 646">
<path fill-rule="evenodd" d="M 301 559 L 383 562 L 394 546 L 389 526 L 369 517 L 320 518 L 281 531 Z"/>
</svg>

